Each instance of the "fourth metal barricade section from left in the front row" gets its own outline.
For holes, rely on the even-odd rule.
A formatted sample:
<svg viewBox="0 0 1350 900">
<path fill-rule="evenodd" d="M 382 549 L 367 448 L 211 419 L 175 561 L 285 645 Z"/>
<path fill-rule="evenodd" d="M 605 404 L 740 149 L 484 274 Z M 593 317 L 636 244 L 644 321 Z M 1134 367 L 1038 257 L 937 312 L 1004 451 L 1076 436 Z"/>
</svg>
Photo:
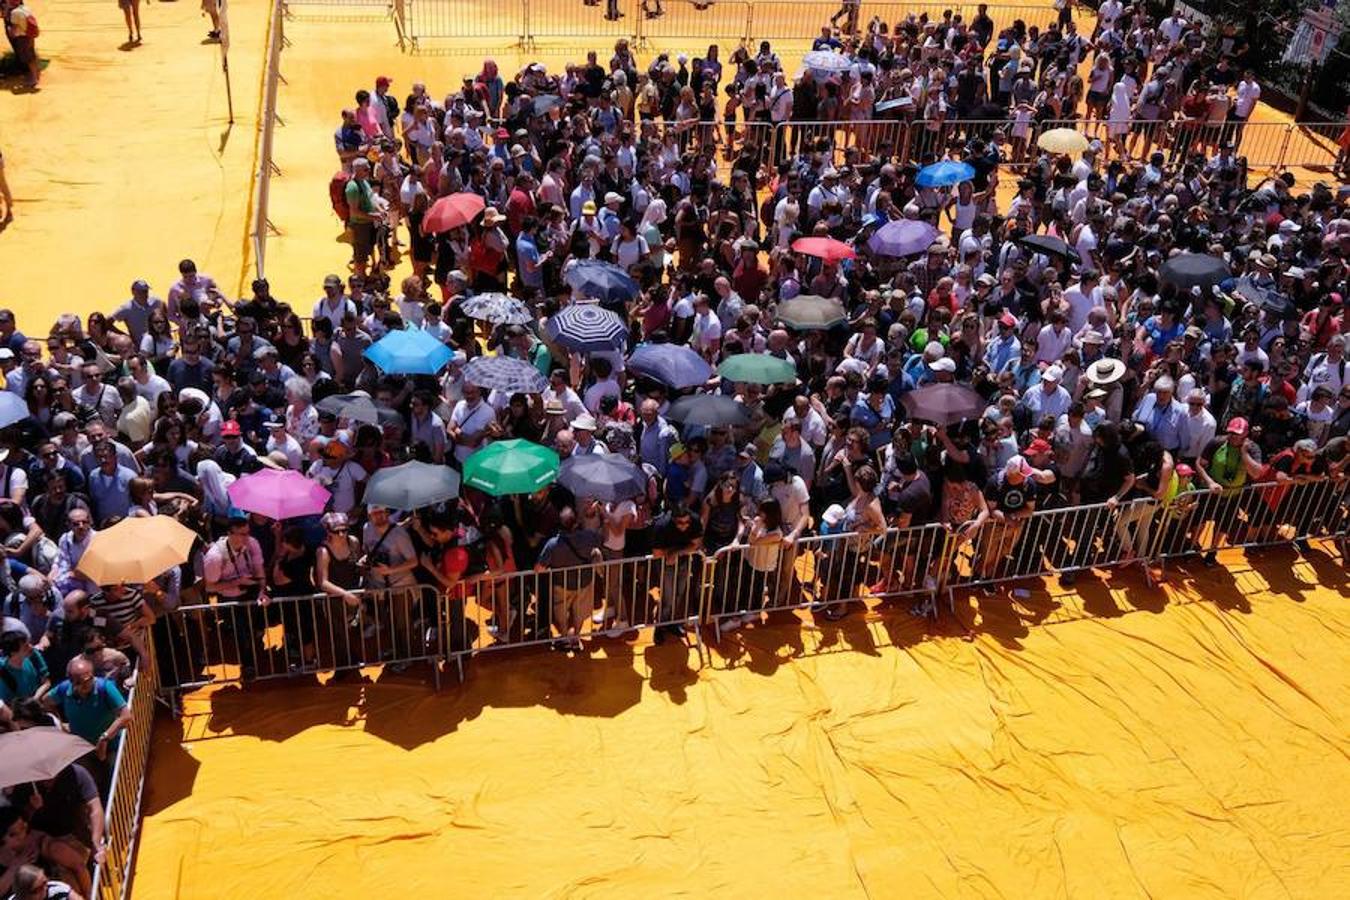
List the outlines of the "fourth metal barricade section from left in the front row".
<svg viewBox="0 0 1350 900">
<path fill-rule="evenodd" d="M 990 518 L 977 530 L 953 537 L 942 584 L 950 599 L 961 587 L 1142 565 L 1153 546 L 1158 507 L 1157 501 L 1137 499 Z"/>
</svg>

